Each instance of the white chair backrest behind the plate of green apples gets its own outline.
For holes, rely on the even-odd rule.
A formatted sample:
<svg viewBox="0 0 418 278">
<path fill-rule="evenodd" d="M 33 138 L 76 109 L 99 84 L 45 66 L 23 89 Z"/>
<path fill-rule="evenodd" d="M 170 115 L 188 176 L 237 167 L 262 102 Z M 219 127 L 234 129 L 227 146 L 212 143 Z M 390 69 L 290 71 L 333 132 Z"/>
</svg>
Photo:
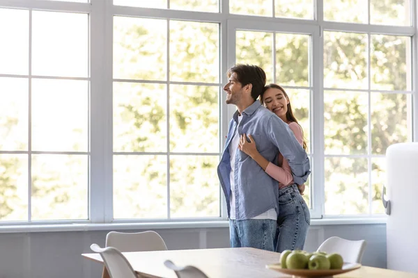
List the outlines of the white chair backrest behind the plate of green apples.
<svg viewBox="0 0 418 278">
<path fill-rule="evenodd" d="M 330 253 L 339 253 L 347 263 L 362 263 L 366 240 L 347 240 L 332 236 L 325 240 L 318 251 Z"/>
</svg>

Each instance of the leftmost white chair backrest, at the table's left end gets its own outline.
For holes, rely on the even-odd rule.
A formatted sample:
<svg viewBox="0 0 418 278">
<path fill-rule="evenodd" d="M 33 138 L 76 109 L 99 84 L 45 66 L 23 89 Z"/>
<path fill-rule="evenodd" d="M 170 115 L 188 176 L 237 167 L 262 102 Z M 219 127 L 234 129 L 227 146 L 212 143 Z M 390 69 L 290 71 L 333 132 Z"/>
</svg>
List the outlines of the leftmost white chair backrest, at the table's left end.
<svg viewBox="0 0 418 278">
<path fill-rule="evenodd" d="M 90 249 L 102 256 L 104 265 L 106 265 L 111 278 L 137 278 L 132 265 L 130 265 L 125 256 L 116 248 L 100 248 L 99 245 L 93 243 Z"/>
</svg>

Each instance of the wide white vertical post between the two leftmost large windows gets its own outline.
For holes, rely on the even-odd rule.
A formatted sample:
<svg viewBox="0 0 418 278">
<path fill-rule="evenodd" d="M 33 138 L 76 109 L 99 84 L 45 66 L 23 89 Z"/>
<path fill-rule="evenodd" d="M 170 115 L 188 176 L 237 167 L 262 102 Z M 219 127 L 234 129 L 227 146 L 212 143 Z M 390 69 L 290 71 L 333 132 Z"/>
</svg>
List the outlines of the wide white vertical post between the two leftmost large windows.
<svg viewBox="0 0 418 278">
<path fill-rule="evenodd" d="M 110 0 L 91 0 L 89 215 L 94 223 L 113 219 L 112 17 L 107 13 L 109 5 Z"/>
</svg>

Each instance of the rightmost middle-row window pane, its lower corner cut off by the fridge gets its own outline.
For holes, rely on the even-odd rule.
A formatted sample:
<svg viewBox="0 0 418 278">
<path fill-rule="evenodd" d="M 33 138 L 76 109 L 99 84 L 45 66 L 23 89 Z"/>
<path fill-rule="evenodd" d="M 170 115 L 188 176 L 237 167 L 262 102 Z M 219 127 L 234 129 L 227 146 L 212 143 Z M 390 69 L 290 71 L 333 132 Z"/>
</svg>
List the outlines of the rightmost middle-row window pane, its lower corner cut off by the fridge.
<svg viewBox="0 0 418 278">
<path fill-rule="evenodd" d="M 411 95 L 371 93 L 371 147 L 386 154 L 389 145 L 412 139 Z"/>
</svg>

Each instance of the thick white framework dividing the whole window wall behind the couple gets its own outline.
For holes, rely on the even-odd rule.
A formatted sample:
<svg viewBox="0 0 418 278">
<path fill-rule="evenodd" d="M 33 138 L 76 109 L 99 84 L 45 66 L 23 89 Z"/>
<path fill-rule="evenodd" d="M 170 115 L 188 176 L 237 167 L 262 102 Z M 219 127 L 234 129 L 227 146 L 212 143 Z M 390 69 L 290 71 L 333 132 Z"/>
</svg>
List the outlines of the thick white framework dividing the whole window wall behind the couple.
<svg viewBox="0 0 418 278">
<path fill-rule="evenodd" d="M 235 30 L 237 28 L 247 28 L 249 30 L 258 31 L 275 31 L 288 33 L 309 33 L 312 35 L 312 60 L 311 60 L 311 124 L 313 140 L 311 156 L 314 158 L 312 172 L 314 172 L 314 193 L 311 196 L 313 209 L 311 211 L 312 218 L 323 217 L 323 206 L 325 200 L 324 192 L 324 134 L 323 134 L 323 31 L 351 31 L 355 33 L 379 33 L 387 35 L 408 35 L 412 36 L 412 128 L 413 141 L 418 138 L 418 97 L 417 97 L 417 72 L 418 72 L 418 39 L 417 39 L 417 0 L 411 1 L 411 26 L 378 26 L 373 24 L 350 24 L 339 22 L 325 22 L 323 20 L 323 0 L 316 0 L 314 19 L 286 19 L 274 17 L 258 17 L 249 15 L 233 15 L 229 13 L 229 0 L 219 0 L 219 10 L 222 13 L 203 13 L 190 12 L 184 10 L 166 10 L 159 8 L 136 8 L 113 6 L 111 0 L 91 0 L 91 3 L 71 3 L 65 1 L 48 1 L 48 0 L 0 0 L 0 8 L 23 8 L 32 10 L 51 10 L 69 13 L 87 13 L 89 14 L 90 24 L 90 45 L 89 45 L 89 79 L 90 79 L 90 172 L 89 172 L 89 204 L 88 204 L 88 220 L 59 220 L 59 221 L 42 221 L 36 224 L 44 225 L 36 227 L 32 225 L 33 231 L 56 231 L 56 230 L 86 230 L 86 229 L 105 229 L 107 225 L 113 222 L 114 227 L 226 227 L 226 206 L 225 198 L 221 194 L 221 217 L 205 222 L 202 219 L 190 219 L 178 222 L 177 220 L 161 220 L 152 223 L 141 223 L 139 220 L 132 221 L 114 221 L 113 220 L 113 142 L 112 142 L 112 88 L 113 88 L 113 16 L 132 16 L 132 17 L 148 17 L 162 19 L 183 19 L 196 22 L 216 22 L 220 24 L 220 85 L 226 83 L 226 70 L 233 65 L 235 60 Z M 273 3 L 274 5 L 274 3 Z M 370 12 L 369 12 L 370 13 Z M 370 17 L 370 15 L 369 15 Z M 233 34 L 233 35 L 232 35 Z M 2 75 L 4 76 L 4 75 Z M 222 92 L 222 90 L 221 90 Z M 312 93 L 314 92 L 314 93 Z M 221 152 L 225 143 L 225 135 L 227 133 L 228 122 L 235 109 L 225 104 L 226 96 L 221 93 L 220 101 L 220 138 Z M 341 217 L 339 216 L 341 219 Z M 318 223 L 337 224 L 358 221 L 384 222 L 375 215 L 370 218 L 359 215 L 358 218 L 346 220 L 333 220 Z M 328 220 L 327 220 L 328 221 Z M 134 224 L 130 222 L 140 223 Z M 157 223 L 158 222 L 158 223 Z M 79 223 L 79 226 L 68 226 L 64 228 L 52 228 L 53 224 Z M 202 224 L 203 223 L 203 224 Z M 206 224 L 204 224 L 206 223 Z M 1 231 L 17 231 L 13 227 L 7 227 L 8 224 L 16 225 L 17 223 L 0 222 Z M 31 223 L 24 222 L 24 224 Z M 86 224 L 92 225 L 92 228 L 86 228 Z M 126 225 L 126 226 L 125 226 Z M 150 226 L 151 225 L 151 226 Z M 154 225 L 154 226 L 152 226 Z M 169 226 L 167 226 L 169 227 Z M 4 229 L 3 229 L 4 228 Z M 18 229 L 19 231 L 23 231 Z"/>
</svg>

